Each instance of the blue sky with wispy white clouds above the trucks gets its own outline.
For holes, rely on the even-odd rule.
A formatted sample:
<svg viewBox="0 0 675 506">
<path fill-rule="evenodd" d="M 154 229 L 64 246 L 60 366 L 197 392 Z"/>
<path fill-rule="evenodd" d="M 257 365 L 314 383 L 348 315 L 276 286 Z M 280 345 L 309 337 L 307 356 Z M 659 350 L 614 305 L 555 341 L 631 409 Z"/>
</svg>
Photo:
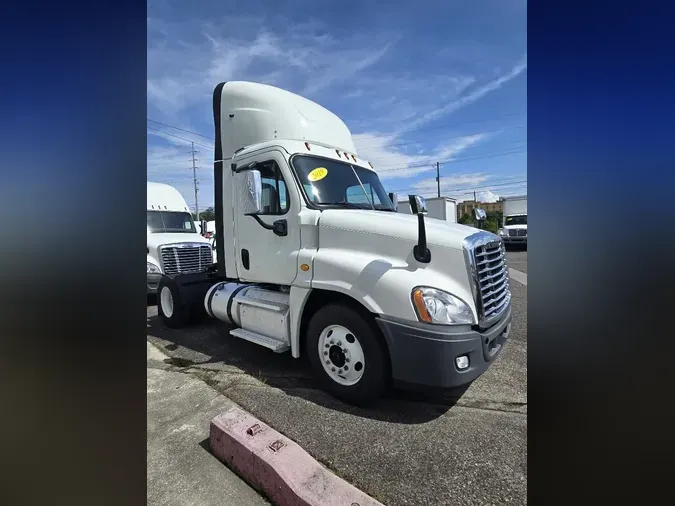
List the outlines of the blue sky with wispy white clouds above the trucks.
<svg viewBox="0 0 675 506">
<path fill-rule="evenodd" d="M 213 205 L 213 88 L 247 80 L 340 116 L 388 191 L 435 196 L 439 161 L 444 195 L 527 193 L 524 0 L 281 4 L 148 2 L 148 180 L 194 205 L 194 141 Z"/>
</svg>

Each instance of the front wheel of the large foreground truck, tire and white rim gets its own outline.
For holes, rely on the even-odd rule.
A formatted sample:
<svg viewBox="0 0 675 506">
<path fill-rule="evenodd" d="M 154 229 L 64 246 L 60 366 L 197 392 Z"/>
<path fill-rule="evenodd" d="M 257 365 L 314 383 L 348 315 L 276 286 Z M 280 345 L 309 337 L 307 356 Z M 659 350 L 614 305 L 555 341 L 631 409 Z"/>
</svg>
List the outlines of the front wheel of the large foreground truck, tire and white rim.
<svg viewBox="0 0 675 506">
<path fill-rule="evenodd" d="M 369 404 L 384 393 L 388 355 L 372 321 L 342 305 L 317 311 L 305 346 L 312 370 L 324 388 L 351 404 Z"/>
</svg>

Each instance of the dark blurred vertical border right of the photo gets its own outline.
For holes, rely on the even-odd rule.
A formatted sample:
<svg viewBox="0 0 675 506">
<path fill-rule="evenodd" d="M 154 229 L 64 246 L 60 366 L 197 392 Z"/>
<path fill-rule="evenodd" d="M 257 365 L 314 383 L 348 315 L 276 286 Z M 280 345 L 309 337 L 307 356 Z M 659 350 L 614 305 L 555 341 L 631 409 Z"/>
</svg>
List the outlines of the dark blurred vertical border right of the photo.
<svg viewBox="0 0 675 506">
<path fill-rule="evenodd" d="M 672 61 L 651 2 L 528 6 L 528 485 L 656 498 L 673 455 Z"/>
</svg>

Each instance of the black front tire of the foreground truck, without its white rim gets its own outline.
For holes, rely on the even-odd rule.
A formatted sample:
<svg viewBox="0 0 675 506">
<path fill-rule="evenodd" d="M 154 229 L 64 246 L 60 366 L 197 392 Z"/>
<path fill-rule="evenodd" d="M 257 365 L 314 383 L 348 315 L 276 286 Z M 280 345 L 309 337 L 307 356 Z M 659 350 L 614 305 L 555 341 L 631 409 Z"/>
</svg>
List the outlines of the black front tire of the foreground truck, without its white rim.
<svg viewBox="0 0 675 506">
<path fill-rule="evenodd" d="M 346 327 L 361 345 L 366 366 L 363 376 L 354 385 L 341 385 L 324 370 L 318 345 L 321 332 L 330 325 Z M 331 304 L 312 316 L 307 326 L 304 348 L 314 376 L 326 391 L 350 404 L 365 406 L 382 397 L 389 387 L 389 356 L 383 341 L 372 319 L 350 307 Z"/>
</svg>

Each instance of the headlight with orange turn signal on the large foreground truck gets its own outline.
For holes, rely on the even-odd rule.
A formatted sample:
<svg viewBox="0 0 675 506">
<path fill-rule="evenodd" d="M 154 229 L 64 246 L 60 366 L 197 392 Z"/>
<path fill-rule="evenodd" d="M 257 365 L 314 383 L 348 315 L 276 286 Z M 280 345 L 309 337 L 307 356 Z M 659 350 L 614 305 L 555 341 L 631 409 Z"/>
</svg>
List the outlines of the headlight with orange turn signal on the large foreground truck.
<svg viewBox="0 0 675 506">
<path fill-rule="evenodd" d="M 412 302 L 420 321 L 441 325 L 474 323 L 471 308 L 448 292 L 419 286 L 412 291 Z"/>
</svg>

